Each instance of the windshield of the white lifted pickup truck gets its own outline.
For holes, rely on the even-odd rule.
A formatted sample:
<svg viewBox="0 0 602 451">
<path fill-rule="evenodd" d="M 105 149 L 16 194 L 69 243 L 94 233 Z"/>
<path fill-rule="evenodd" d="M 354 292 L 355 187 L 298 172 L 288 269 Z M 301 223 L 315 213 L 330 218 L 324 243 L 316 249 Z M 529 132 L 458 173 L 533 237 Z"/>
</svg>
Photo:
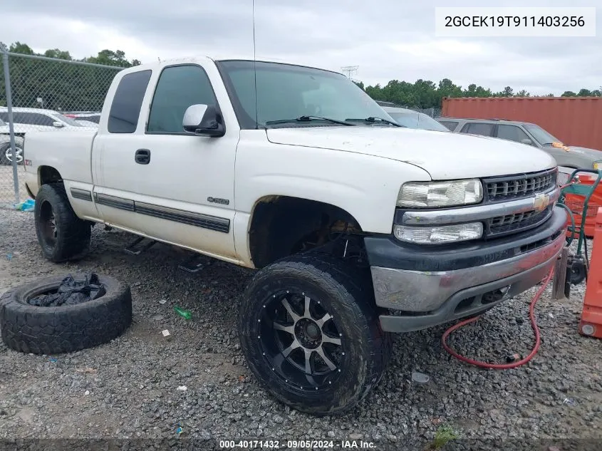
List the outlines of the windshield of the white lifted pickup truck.
<svg viewBox="0 0 602 451">
<path fill-rule="evenodd" d="M 272 121 L 291 120 L 301 116 L 321 116 L 336 120 L 370 117 L 392 120 L 356 83 L 339 73 L 258 61 L 255 80 L 254 66 L 253 61 L 218 63 L 242 128 L 252 129 L 257 125 L 264 127 Z M 312 125 L 341 126 L 320 120 L 268 126 Z M 365 125 L 392 126 L 382 122 L 367 122 Z"/>
</svg>

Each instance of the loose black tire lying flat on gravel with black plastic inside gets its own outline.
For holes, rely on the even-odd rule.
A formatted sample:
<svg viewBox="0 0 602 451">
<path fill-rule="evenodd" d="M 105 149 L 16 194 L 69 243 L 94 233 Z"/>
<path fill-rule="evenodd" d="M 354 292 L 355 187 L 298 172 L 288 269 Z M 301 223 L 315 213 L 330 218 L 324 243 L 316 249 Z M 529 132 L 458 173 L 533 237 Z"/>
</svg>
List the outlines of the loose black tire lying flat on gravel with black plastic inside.
<svg viewBox="0 0 602 451">
<path fill-rule="evenodd" d="M 14 351 L 56 354 L 107 343 L 132 323 L 130 287 L 110 276 L 98 276 L 106 293 L 76 305 L 32 306 L 32 299 L 56 290 L 64 276 L 17 286 L 0 297 L 2 341 Z"/>
</svg>

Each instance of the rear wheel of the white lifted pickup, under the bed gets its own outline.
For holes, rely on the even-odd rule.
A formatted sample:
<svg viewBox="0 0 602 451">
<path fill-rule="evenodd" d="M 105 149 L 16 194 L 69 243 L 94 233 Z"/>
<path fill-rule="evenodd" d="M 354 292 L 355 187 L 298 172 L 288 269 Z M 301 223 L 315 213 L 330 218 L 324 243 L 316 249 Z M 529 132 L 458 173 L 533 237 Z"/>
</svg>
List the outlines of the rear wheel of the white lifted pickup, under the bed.
<svg viewBox="0 0 602 451">
<path fill-rule="evenodd" d="M 54 263 L 80 259 L 90 248 L 90 222 L 77 217 L 62 183 L 42 185 L 33 210 L 42 253 Z"/>
</svg>

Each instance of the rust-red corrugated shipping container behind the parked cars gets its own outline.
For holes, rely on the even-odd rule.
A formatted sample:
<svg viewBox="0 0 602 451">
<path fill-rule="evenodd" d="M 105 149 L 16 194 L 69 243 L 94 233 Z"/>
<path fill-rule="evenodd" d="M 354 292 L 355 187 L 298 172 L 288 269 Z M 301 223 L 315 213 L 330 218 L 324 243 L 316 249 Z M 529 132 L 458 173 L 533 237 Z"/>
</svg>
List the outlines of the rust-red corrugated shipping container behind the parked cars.
<svg viewBox="0 0 602 451">
<path fill-rule="evenodd" d="M 442 115 L 521 120 L 539 125 L 566 145 L 602 150 L 601 97 L 443 98 Z"/>
</svg>

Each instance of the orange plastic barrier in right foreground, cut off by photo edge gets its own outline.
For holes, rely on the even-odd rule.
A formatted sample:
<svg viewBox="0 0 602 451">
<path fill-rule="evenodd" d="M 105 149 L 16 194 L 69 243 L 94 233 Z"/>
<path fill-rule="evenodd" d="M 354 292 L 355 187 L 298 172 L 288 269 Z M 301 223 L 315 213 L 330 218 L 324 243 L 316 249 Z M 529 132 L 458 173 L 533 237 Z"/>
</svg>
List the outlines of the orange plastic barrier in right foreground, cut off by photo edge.
<svg viewBox="0 0 602 451">
<path fill-rule="evenodd" d="M 602 208 L 597 209 L 589 266 L 579 333 L 602 338 Z"/>
</svg>

